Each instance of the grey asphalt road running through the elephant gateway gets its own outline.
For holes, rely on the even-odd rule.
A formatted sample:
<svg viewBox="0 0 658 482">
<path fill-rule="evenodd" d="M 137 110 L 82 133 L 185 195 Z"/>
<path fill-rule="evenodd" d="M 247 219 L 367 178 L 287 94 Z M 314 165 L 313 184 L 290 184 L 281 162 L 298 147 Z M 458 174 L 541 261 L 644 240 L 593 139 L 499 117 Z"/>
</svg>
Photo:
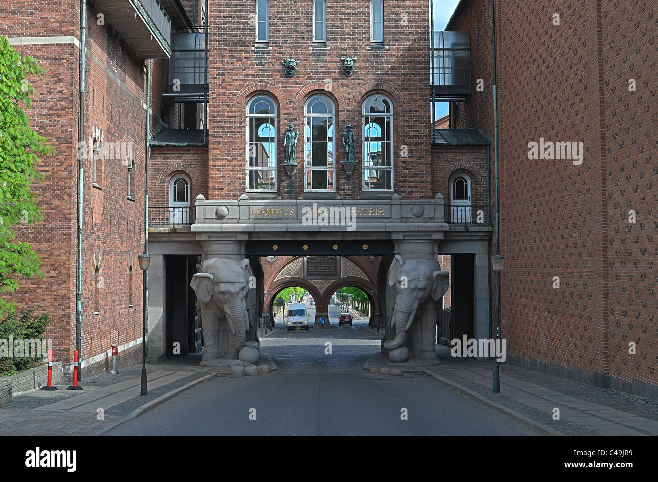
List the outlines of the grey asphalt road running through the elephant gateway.
<svg viewBox="0 0 658 482">
<path fill-rule="evenodd" d="M 534 435 L 428 377 L 368 374 L 379 345 L 356 324 L 282 329 L 263 339 L 278 372 L 210 379 L 107 435 Z"/>
</svg>

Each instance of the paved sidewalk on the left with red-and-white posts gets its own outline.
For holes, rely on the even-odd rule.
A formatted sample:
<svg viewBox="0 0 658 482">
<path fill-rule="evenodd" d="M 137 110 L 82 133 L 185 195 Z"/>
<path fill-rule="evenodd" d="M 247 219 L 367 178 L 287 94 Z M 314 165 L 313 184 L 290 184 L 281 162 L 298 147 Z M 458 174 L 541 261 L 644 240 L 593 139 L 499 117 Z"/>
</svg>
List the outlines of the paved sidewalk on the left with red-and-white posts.
<svg viewBox="0 0 658 482">
<path fill-rule="evenodd" d="M 188 357 L 192 358 L 192 357 Z M 139 395 L 141 365 L 123 368 L 118 375 L 99 374 L 83 379 L 82 391 L 30 390 L 0 405 L 0 436 L 89 436 L 149 410 L 197 383 L 218 375 L 216 368 L 198 366 L 199 360 L 147 365 L 148 395 Z"/>
</svg>

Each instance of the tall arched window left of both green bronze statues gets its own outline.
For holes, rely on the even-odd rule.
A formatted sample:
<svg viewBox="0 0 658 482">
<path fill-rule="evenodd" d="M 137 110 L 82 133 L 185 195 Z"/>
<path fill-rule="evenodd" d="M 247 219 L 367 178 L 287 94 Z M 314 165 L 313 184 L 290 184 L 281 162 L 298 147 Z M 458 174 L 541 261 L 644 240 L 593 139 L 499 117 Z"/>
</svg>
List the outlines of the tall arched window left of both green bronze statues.
<svg viewBox="0 0 658 482">
<path fill-rule="evenodd" d="M 247 191 L 276 191 L 276 103 L 258 95 L 247 104 Z"/>
</svg>

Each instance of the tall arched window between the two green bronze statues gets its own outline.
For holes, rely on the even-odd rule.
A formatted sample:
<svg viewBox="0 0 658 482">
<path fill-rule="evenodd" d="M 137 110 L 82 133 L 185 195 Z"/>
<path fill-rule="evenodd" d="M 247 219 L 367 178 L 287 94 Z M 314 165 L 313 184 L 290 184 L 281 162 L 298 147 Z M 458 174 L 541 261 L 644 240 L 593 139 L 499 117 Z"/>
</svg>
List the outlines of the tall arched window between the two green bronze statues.
<svg viewBox="0 0 658 482">
<path fill-rule="evenodd" d="M 304 116 L 304 190 L 335 191 L 334 103 L 326 95 L 314 95 Z"/>
</svg>

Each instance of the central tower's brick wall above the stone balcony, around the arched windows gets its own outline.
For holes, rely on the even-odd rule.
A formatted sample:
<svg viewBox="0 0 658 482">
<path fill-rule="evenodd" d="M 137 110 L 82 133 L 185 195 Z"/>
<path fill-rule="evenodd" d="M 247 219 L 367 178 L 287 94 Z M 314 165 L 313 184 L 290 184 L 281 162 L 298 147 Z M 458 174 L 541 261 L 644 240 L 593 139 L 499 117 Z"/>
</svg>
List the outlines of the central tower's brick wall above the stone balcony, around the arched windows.
<svg viewBox="0 0 658 482">
<path fill-rule="evenodd" d="M 342 132 L 355 127 L 355 158 L 361 158 L 361 108 L 369 93 L 387 93 L 394 120 L 395 191 L 404 198 L 428 198 L 430 108 L 428 102 L 428 5 L 411 1 L 389 2 L 384 18 L 384 45 L 370 47 L 370 2 L 328 0 L 326 48 L 313 47 L 312 2 L 270 1 L 269 45 L 255 48 L 255 27 L 250 24 L 253 3 L 228 0 L 210 5 L 210 117 L 209 199 L 238 199 L 245 192 L 245 111 L 255 93 L 276 99 L 278 114 L 278 183 L 281 199 L 303 193 L 303 107 L 313 93 L 326 93 L 336 103 L 336 194 L 355 199 L 361 193 L 361 172 L 349 177 Z M 226 22 L 226 19 L 232 19 Z M 288 55 L 301 63 L 297 75 L 287 78 L 280 63 Z M 355 73 L 343 75 L 341 56 L 358 57 Z M 288 124 L 301 133 L 297 142 L 297 171 L 289 177 L 282 167 L 283 136 Z M 401 157 L 403 145 L 408 157 Z"/>
</svg>

